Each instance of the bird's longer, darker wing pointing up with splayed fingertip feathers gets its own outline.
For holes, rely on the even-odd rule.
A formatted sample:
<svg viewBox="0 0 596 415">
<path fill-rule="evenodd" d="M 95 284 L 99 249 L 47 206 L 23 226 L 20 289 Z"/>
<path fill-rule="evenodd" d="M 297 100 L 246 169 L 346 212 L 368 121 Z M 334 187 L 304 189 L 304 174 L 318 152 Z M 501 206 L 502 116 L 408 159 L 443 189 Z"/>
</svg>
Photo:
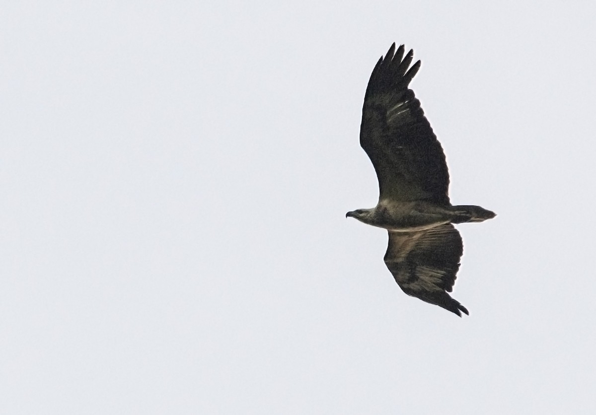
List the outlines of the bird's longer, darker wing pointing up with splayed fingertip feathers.
<svg viewBox="0 0 596 415">
<path fill-rule="evenodd" d="M 420 101 L 408 89 L 420 61 L 408 70 L 414 52 L 410 50 L 402 60 L 403 51 L 403 45 L 395 51 L 393 43 L 371 74 L 362 108 L 360 144 L 377 171 L 380 200 L 448 205 L 445 154 Z"/>
</svg>

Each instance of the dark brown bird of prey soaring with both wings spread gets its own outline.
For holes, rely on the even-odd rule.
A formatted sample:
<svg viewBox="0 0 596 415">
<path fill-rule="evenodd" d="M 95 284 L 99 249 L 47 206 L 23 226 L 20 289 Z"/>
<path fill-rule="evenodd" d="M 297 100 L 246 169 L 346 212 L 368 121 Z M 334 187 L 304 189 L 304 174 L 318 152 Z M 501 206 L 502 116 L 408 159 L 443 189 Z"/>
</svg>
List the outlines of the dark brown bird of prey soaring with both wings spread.
<svg viewBox="0 0 596 415">
<path fill-rule="evenodd" d="M 463 244 L 453 223 L 482 222 L 495 213 L 449 202 L 445 154 L 408 85 L 420 68 L 414 51 L 391 45 L 364 95 L 360 144 L 377 172 L 377 206 L 346 213 L 389 232 L 384 260 L 403 292 L 461 317 L 451 298 Z"/>
</svg>

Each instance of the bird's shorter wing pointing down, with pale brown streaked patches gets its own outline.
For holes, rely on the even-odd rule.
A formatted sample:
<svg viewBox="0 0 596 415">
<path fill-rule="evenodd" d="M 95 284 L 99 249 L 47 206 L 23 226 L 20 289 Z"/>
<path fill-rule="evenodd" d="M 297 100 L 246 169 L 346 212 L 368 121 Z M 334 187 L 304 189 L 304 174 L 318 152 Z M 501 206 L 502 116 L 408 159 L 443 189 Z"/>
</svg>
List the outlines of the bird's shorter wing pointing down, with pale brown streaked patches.
<svg viewBox="0 0 596 415">
<path fill-rule="evenodd" d="M 460 233 L 448 223 L 418 232 L 389 231 L 385 264 L 403 292 L 461 317 L 468 310 L 451 298 L 464 252 Z"/>
</svg>

